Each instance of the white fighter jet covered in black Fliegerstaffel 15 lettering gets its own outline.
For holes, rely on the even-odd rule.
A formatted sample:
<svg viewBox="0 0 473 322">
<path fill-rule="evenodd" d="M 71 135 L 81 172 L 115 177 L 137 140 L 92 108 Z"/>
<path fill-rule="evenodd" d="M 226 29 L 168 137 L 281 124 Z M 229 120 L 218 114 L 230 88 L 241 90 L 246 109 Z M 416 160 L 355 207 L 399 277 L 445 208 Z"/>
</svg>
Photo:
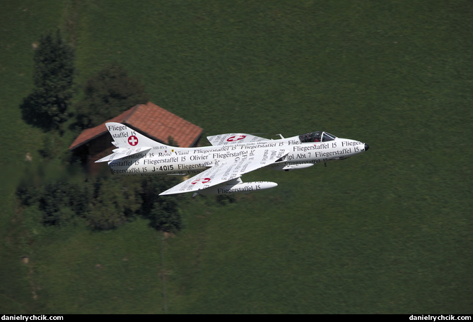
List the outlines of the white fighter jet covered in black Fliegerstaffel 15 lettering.
<svg viewBox="0 0 473 322">
<path fill-rule="evenodd" d="M 108 162 L 113 174 L 188 176 L 161 195 L 194 192 L 202 195 L 248 193 L 270 189 L 275 182 L 243 182 L 243 174 L 262 167 L 291 171 L 315 163 L 344 160 L 368 150 L 368 144 L 316 131 L 271 140 L 252 134 L 207 136 L 212 146 L 178 148 L 151 140 L 119 123 L 107 123 L 117 149 L 95 162 Z"/>
</svg>

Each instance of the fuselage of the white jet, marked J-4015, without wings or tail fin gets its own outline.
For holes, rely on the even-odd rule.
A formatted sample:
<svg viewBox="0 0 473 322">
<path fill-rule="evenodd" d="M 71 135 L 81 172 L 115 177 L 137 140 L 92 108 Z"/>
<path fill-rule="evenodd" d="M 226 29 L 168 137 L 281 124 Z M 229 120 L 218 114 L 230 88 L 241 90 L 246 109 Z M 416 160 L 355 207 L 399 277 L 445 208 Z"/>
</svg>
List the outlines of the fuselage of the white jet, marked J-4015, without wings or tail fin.
<svg viewBox="0 0 473 322">
<path fill-rule="evenodd" d="M 334 138 L 327 142 L 300 141 L 299 136 L 254 143 L 233 143 L 202 148 L 173 148 L 154 146 L 146 153 L 136 153 L 109 163 L 113 174 L 134 176 L 187 175 L 213 167 L 216 162 L 239 162 L 250 160 L 257 149 L 266 149 L 264 157 L 275 157 L 279 150 L 289 150 L 281 160 L 267 167 L 290 171 L 303 169 L 316 163 L 344 160 L 368 150 L 368 145 L 346 138 Z M 242 167 L 244 167 L 243 165 Z"/>
</svg>

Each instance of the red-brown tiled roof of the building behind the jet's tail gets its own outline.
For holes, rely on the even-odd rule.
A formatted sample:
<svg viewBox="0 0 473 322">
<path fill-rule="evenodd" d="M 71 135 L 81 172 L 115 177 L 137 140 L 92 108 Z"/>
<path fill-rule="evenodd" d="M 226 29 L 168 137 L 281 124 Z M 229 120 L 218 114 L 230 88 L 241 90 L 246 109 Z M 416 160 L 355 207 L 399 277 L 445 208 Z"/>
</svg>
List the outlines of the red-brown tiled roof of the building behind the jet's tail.
<svg viewBox="0 0 473 322">
<path fill-rule="evenodd" d="M 107 132 L 105 126 L 107 122 L 128 125 L 149 138 L 163 143 L 167 143 L 169 136 L 171 136 L 182 148 L 194 145 L 202 134 L 202 128 L 199 126 L 148 102 L 146 105 L 136 105 L 99 126 L 84 130 L 71 144 L 69 150 L 74 150 Z"/>
</svg>

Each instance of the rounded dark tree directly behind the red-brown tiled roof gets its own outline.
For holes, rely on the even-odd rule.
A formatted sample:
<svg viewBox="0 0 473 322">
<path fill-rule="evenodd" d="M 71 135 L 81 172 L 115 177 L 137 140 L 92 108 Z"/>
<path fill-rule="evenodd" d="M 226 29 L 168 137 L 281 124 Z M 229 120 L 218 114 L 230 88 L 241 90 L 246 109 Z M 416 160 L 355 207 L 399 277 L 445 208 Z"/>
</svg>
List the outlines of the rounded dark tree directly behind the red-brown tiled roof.
<svg viewBox="0 0 473 322">
<path fill-rule="evenodd" d="M 84 98 L 76 105 L 77 124 L 82 129 L 97 126 L 149 99 L 138 78 L 119 65 L 109 65 L 86 82 Z"/>
</svg>

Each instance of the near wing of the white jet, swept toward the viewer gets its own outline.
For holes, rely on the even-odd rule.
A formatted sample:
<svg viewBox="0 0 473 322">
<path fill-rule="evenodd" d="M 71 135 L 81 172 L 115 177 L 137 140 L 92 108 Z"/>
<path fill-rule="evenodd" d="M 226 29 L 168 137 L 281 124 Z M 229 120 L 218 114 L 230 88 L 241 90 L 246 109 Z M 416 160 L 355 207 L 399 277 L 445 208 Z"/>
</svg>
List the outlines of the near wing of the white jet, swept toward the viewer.
<svg viewBox="0 0 473 322">
<path fill-rule="evenodd" d="M 226 157 L 223 160 L 218 160 L 210 169 L 206 169 L 204 172 L 177 184 L 177 186 L 173 186 L 173 188 L 159 195 L 199 191 L 226 181 L 238 179 L 245 173 L 271 165 L 288 153 L 289 150 L 278 150 L 277 148 L 248 149 L 240 153 L 233 153 L 236 155 L 235 157 Z M 228 154 L 231 155 L 232 153 Z"/>
</svg>

